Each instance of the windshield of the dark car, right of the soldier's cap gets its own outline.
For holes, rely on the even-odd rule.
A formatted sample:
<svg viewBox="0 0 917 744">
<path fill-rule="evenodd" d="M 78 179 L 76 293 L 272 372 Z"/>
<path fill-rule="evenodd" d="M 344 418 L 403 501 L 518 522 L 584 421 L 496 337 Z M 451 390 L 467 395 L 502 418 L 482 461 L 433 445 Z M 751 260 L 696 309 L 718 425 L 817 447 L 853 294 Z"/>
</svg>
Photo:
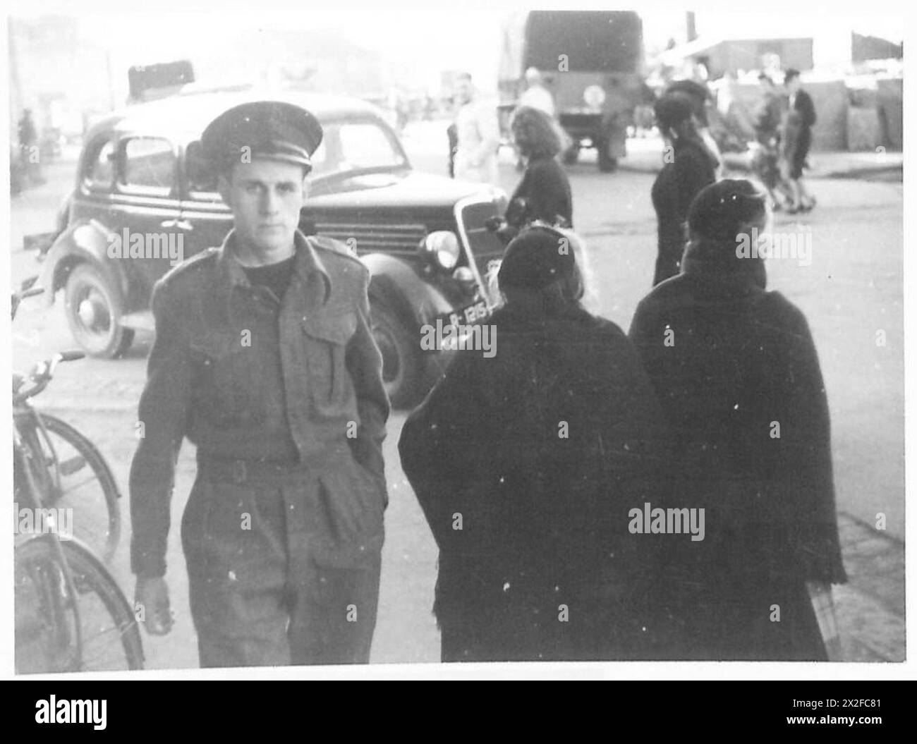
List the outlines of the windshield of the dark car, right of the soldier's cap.
<svg viewBox="0 0 917 744">
<path fill-rule="evenodd" d="M 313 174 L 326 176 L 367 168 L 406 165 L 391 133 L 375 122 L 328 124 L 312 156 Z"/>
</svg>

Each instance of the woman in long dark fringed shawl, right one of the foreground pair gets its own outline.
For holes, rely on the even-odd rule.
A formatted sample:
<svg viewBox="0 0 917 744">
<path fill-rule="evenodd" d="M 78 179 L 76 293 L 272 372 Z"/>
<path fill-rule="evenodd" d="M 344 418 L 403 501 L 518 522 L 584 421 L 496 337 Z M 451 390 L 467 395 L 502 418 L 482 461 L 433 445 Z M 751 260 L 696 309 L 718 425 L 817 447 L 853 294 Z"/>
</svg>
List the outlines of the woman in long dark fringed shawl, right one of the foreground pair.
<svg viewBox="0 0 917 744">
<path fill-rule="evenodd" d="M 809 592 L 845 582 L 812 334 L 743 237 L 767 220 L 749 181 L 701 191 L 681 273 L 630 330 L 672 429 L 673 498 L 706 509 L 668 567 L 678 658 L 825 660 Z"/>
</svg>

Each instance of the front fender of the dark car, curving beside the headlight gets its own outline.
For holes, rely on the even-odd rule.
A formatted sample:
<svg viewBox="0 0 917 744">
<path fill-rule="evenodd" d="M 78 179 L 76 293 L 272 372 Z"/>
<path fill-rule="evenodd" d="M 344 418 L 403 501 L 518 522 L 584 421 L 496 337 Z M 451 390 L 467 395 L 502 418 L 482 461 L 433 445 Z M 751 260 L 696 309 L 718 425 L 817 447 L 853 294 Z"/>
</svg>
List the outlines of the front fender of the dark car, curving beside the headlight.
<svg viewBox="0 0 917 744">
<path fill-rule="evenodd" d="M 370 302 L 392 308 L 408 330 L 414 332 L 425 323 L 435 323 L 436 317 L 455 309 L 405 261 L 384 253 L 370 253 L 360 260 L 370 269 Z"/>
</svg>

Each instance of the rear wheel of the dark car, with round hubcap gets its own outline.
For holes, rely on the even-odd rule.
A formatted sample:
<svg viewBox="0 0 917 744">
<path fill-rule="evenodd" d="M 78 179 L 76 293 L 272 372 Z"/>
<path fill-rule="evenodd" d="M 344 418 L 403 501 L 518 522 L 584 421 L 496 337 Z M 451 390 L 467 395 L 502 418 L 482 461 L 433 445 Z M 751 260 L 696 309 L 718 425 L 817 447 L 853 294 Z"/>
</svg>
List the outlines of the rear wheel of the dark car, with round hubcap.
<svg viewBox="0 0 917 744">
<path fill-rule="evenodd" d="M 72 268 L 64 293 L 73 340 L 86 354 L 110 359 L 130 348 L 134 331 L 121 325 L 118 294 L 99 269 L 90 264 Z"/>
</svg>

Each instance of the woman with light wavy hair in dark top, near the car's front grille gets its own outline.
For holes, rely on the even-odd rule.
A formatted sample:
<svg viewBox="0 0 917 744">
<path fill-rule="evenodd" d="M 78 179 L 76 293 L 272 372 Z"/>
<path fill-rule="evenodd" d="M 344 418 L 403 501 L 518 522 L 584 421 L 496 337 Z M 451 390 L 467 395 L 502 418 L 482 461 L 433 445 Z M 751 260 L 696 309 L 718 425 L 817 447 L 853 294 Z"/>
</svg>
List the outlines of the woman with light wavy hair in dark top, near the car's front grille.
<svg viewBox="0 0 917 744">
<path fill-rule="evenodd" d="M 551 118 L 532 106 L 520 106 L 510 122 L 515 147 L 525 162 L 502 221 L 493 224 L 508 244 L 535 221 L 573 226 L 573 196 L 567 174 L 558 163 L 560 136 Z"/>
</svg>

